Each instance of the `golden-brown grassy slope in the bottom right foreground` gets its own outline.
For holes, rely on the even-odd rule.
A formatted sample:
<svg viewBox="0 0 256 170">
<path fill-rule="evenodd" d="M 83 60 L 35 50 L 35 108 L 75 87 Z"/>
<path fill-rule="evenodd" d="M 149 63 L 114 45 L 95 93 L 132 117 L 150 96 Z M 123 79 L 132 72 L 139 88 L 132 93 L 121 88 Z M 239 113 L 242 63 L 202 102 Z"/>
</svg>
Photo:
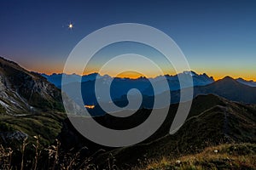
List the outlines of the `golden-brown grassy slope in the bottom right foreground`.
<svg viewBox="0 0 256 170">
<path fill-rule="evenodd" d="M 256 144 L 221 144 L 195 155 L 146 160 L 133 169 L 256 169 Z"/>
</svg>

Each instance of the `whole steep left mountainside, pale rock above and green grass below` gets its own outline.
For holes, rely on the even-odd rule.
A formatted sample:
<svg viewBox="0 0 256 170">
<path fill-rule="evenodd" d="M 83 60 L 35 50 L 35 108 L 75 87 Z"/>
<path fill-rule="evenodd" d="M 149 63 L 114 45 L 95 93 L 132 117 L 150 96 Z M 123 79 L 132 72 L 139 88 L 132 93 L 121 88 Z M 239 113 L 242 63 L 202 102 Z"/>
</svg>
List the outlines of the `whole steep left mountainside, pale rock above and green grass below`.
<svg viewBox="0 0 256 170">
<path fill-rule="evenodd" d="M 0 144 L 11 144 L 34 135 L 44 143 L 61 131 L 61 91 L 46 78 L 0 58 Z"/>
</svg>

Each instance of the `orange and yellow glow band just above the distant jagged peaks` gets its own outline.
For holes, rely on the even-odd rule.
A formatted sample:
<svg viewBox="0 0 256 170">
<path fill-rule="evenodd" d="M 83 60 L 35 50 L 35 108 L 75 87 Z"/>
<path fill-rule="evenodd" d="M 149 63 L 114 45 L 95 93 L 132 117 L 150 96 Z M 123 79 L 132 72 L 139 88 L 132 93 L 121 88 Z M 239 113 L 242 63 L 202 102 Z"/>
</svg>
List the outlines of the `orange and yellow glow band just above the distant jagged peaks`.
<svg viewBox="0 0 256 170">
<path fill-rule="evenodd" d="M 51 75 L 53 73 L 60 74 L 63 73 L 63 67 L 64 67 L 64 62 L 60 63 L 59 61 L 51 62 L 49 63 L 48 61 L 43 61 L 40 64 L 38 63 L 37 65 L 26 65 L 26 63 L 21 63 L 21 66 L 24 67 L 28 71 L 36 71 L 39 73 L 45 73 L 47 75 Z M 256 82 L 256 77 L 255 77 L 255 69 L 254 68 L 247 68 L 247 69 L 233 69 L 233 68 L 223 68 L 219 66 L 218 68 L 216 67 L 208 67 L 207 65 L 203 65 L 200 67 L 200 65 L 196 65 L 195 67 L 191 67 L 191 71 L 195 71 L 197 74 L 203 74 L 206 73 L 208 77 L 213 77 L 214 80 L 219 80 L 223 79 L 226 76 L 233 77 L 234 79 L 236 78 L 243 78 L 244 80 L 250 81 L 253 80 Z M 84 71 L 83 74 L 78 74 L 79 71 L 76 70 L 74 67 L 72 71 L 68 71 L 67 74 L 78 74 L 80 76 L 82 75 L 88 75 L 91 73 L 97 72 L 97 67 L 90 67 L 89 70 Z M 167 68 L 163 71 L 164 74 L 168 75 L 176 75 L 177 73 L 174 70 L 168 70 Z M 254 74 L 253 74 L 254 73 Z M 103 75 L 108 74 L 110 77 L 114 77 L 114 71 L 108 71 L 104 73 Z M 102 75 L 102 74 L 101 74 Z M 156 75 L 154 72 L 148 71 L 148 78 L 154 78 L 160 75 Z M 117 77 L 129 77 L 129 78 L 137 78 L 137 77 L 147 77 L 142 74 L 139 74 L 135 71 L 125 71 L 120 73 Z"/>
</svg>

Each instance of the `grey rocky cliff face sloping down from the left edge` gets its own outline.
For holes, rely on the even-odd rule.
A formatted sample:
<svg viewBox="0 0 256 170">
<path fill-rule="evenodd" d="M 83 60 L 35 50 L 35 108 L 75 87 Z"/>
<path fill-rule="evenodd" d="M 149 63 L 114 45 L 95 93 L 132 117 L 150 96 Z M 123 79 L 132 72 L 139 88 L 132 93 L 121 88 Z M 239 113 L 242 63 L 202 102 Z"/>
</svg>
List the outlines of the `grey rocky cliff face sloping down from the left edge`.
<svg viewBox="0 0 256 170">
<path fill-rule="evenodd" d="M 1 113 L 9 115 L 63 110 L 58 88 L 39 74 L 3 58 L 0 58 L 0 105 Z"/>
</svg>

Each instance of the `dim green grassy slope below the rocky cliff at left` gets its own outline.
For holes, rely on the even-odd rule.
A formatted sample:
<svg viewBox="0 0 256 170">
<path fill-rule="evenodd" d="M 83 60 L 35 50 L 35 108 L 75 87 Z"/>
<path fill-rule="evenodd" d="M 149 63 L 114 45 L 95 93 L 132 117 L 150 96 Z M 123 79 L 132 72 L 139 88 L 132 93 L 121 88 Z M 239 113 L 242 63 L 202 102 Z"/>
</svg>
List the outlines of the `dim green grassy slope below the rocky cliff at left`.
<svg viewBox="0 0 256 170">
<path fill-rule="evenodd" d="M 0 127 L 3 132 L 20 131 L 29 139 L 40 135 L 43 144 L 52 143 L 61 132 L 62 121 L 66 115 L 61 112 L 45 112 L 28 116 L 0 116 Z M 12 141 L 9 141 L 12 142 Z M 0 144 L 4 144 L 0 139 Z"/>
</svg>

